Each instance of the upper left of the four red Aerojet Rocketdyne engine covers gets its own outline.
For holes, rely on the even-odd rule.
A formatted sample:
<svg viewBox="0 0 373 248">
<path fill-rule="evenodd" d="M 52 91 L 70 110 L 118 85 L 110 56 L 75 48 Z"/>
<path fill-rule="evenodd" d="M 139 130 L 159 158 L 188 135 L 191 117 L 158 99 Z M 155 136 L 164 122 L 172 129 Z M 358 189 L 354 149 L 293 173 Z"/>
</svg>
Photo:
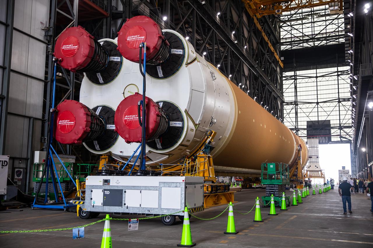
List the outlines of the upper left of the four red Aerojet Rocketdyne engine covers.
<svg viewBox="0 0 373 248">
<path fill-rule="evenodd" d="M 60 66 L 75 72 L 90 63 L 94 50 L 94 37 L 82 26 L 77 26 L 66 28 L 58 37 L 54 56 Z"/>
</svg>

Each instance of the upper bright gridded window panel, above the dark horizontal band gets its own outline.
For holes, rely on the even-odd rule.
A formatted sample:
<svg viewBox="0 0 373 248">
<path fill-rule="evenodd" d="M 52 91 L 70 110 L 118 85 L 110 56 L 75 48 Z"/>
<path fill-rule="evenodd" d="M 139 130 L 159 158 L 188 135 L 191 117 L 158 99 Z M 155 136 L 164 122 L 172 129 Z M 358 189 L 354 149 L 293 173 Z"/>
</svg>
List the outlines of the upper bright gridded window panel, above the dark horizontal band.
<svg viewBox="0 0 373 248">
<path fill-rule="evenodd" d="M 281 50 L 344 42 L 343 15 L 329 12 L 323 6 L 284 14 L 280 20 Z"/>
</svg>

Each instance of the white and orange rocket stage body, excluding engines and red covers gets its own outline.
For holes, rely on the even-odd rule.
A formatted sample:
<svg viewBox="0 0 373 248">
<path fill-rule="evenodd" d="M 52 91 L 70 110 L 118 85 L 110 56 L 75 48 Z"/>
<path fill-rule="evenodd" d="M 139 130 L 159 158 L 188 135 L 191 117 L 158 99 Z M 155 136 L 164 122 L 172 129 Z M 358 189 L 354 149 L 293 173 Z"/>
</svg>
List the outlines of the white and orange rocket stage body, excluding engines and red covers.
<svg viewBox="0 0 373 248">
<path fill-rule="evenodd" d="M 303 166 L 307 163 L 307 147 L 303 140 L 198 55 L 181 34 L 168 29 L 163 32 L 180 39 L 184 49 L 171 53 L 183 53 L 184 61 L 168 78 L 157 79 L 147 74 L 146 96 L 161 107 L 164 104 L 177 106 L 182 121 L 170 125 L 182 126 L 182 132 L 170 147 L 162 147 L 157 140 L 156 146 L 147 145 L 147 165 L 180 162 L 200 144 L 209 129 L 217 133 L 211 144 L 217 171 L 237 168 L 240 172 L 258 172 L 262 162 L 295 164 L 299 144 L 303 148 Z M 100 42 L 103 41 L 117 43 L 117 39 Z M 162 66 L 157 70 L 159 75 L 164 73 Z M 90 108 L 106 105 L 115 110 L 124 97 L 142 93 L 142 80 L 139 64 L 123 58 L 120 73 L 106 85 L 91 83 L 84 77 L 80 102 Z M 106 150 L 84 145 L 93 153 L 110 152 L 115 159 L 126 162 L 138 143 L 128 144 L 119 136 Z"/>
</svg>

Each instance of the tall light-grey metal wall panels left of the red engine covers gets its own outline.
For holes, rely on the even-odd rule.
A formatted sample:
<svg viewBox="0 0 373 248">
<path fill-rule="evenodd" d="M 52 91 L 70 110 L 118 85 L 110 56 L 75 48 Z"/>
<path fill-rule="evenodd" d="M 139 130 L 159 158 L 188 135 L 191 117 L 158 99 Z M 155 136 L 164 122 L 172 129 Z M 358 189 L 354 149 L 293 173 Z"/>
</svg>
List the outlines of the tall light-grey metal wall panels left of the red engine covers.
<svg viewBox="0 0 373 248">
<path fill-rule="evenodd" d="M 6 11 L 6 8 L 0 8 L 0 19 L 2 9 Z M 32 145 L 31 151 L 41 149 L 41 120 L 34 119 L 33 130 L 29 130 L 29 117 L 43 117 L 46 44 L 38 39 L 45 40 L 42 28 L 46 27 L 48 19 L 49 0 L 15 0 L 14 28 L 29 35 L 13 31 L 11 69 L 14 71 L 10 76 L 5 148 L 5 154 L 11 157 L 8 172 L 10 178 L 14 177 L 15 168 L 26 168 L 27 158 L 32 155 L 28 154 L 28 144 Z M 1 32 L 0 27 L 0 37 L 3 37 Z M 32 140 L 29 137 L 30 131 L 33 131 Z M 24 189 L 21 187 L 21 190 Z"/>
</svg>

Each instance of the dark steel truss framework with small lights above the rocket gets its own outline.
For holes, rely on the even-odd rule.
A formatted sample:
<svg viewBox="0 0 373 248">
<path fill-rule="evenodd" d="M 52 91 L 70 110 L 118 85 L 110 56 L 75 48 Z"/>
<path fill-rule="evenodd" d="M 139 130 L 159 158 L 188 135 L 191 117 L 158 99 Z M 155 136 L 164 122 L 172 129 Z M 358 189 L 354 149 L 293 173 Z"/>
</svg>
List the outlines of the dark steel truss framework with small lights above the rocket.
<svg viewBox="0 0 373 248">
<path fill-rule="evenodd" d="M 164 0 L 157 2 L 159 7 L 155 4 L 155 1 L 141 1 L 138 5 L 133 2 L 131 13 L 148 15 L 161 28 L 170 28 L 189 37 L 197 53 L 259 104 L 266 106 L 267 111 L 283 120 L 282 69 L 244 3 L 235 0 Z M 163 22 L 161 16 L 167 16 L 167 20 Z M 261 18 L 258 22 L 276 48 L 279 25 L 275 17 Z M 278 48 L 276 51 L 279 53 Z"/>
</svg>

